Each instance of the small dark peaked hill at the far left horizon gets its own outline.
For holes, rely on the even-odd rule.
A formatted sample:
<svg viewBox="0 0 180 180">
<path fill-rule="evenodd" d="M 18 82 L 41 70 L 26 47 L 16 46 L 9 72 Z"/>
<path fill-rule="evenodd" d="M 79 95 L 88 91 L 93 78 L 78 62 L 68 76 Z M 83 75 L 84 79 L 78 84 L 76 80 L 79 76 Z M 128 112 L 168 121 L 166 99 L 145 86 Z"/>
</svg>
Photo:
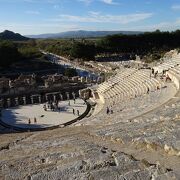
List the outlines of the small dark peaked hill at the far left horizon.
<svg viewBox="0 0 180 180">
<path fill-rule="evenodd" d="M 22 36 L 21 34 L 5 30 L 4 32 L 0 33 L 0 40 L 27 41 L 29 38 Z"/>
</svg>

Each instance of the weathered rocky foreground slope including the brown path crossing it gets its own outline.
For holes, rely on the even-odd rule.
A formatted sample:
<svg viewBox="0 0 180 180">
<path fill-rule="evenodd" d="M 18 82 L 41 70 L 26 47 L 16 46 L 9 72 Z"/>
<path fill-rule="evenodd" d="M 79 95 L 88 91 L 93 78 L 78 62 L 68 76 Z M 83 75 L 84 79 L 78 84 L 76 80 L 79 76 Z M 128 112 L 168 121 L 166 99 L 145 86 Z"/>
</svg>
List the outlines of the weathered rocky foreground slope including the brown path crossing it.
<svg viewBox="0 0 180 180">
<path fill-rule="evenodd" d="M 90 133 L 92 128 L 1 135 L 1 179 L 180 178 L 179 157 Z"/>
</svg>

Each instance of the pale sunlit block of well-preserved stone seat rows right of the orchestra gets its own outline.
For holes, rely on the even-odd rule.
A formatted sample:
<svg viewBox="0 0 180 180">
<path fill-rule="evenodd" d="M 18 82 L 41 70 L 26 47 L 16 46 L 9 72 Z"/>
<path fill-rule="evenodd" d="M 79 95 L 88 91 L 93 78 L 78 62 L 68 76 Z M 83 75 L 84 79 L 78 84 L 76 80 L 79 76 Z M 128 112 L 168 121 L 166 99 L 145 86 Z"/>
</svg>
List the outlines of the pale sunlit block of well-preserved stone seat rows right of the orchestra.
<svg viewBox="0 0 180 180">
<path fill-rule="evenodd" d="M 164 87 L 162 81 L 150 77 L 150 70 L 127 68 L 101 84 L 97 91 L 103 95 L 108 104 L 114 104 L 147 94 L 147 92 L 162 87 Z"/>
</svg>

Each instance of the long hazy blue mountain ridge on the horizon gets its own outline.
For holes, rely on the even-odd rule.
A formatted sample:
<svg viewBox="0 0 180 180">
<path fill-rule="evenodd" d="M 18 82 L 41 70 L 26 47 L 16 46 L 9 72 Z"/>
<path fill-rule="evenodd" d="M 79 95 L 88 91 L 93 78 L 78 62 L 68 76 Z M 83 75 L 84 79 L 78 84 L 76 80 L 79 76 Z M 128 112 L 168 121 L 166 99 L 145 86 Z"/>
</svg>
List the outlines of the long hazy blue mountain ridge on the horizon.
<svg viewBox="0 0 180 180">
<path fill-rule="evenodd" d="M 95 38 L 114 34 L 141 34 L 140 31 L 67 31 L 56 34 L 27 35 L 29 38 Z"/>
</svg>

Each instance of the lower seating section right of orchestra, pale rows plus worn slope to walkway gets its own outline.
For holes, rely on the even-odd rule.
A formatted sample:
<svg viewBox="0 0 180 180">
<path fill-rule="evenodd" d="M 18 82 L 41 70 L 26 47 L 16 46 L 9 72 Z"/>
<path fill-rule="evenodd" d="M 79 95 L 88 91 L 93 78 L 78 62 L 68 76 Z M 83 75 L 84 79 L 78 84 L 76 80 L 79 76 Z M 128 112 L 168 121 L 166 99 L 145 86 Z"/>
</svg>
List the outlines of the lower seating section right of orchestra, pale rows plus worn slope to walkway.
<svg viewBox="0 0 180 180">
<path fill-rule="evenodd" d="M 176 94 L 177 88 L 160 76 L 154 78 L 149 69 L 126 68 L 101 84 L 97 92 L 103 98 L 103 105 L 97 104 L 101 110 L 79 124 L 128 122 L 167 102 Z M 112 109 L 113 114 L 107 115 L 106 107 Z"/>
</svg>

